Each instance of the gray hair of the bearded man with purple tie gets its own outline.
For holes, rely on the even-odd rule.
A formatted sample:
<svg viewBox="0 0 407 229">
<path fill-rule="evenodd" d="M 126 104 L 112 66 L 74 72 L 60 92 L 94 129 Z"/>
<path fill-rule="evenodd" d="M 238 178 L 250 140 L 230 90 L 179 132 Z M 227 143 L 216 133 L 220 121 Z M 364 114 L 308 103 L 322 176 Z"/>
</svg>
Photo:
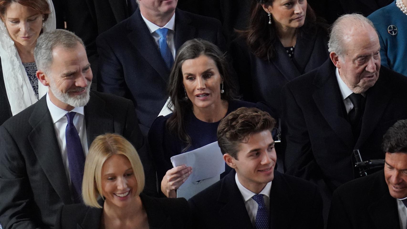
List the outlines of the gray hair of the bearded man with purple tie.
<svg viewBox="0 0 407 229">
<path fill-rule="evenodd" d="M 81 38 L 74 33 L 64 30 L 55 29 L 43 33 L 38 37 L 37 44 L 34 48 L 34 59 L 38 70 L 47 71 L 52 64 L 52 51 L 57 46 L 64 48 L 75 48 L 78 43 L 85 47 Z"/>
</svg>

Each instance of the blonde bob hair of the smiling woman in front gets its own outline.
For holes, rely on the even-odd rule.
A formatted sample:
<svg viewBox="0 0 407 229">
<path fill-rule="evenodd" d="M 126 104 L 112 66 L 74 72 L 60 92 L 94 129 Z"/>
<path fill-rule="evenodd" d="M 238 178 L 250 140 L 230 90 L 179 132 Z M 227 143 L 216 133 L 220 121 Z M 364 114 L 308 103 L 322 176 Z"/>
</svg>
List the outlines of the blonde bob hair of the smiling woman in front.
<svg viewBox="0 0 407 229">
<path fill-rule="evenodd" d="M 102 166 L 112 155 L 124 155 L 129 159 L 137 180 L 136 195 L 139 195 L 144 189 L 144 170 L 134 146 L 118 134 L 106 133 L 95 138 L 86 157 L 82 181 L 82 196 L 85 205 L 102 208 L 98 203 L 99 197 L 104 198 L 101 182 Z"/>
</svg>

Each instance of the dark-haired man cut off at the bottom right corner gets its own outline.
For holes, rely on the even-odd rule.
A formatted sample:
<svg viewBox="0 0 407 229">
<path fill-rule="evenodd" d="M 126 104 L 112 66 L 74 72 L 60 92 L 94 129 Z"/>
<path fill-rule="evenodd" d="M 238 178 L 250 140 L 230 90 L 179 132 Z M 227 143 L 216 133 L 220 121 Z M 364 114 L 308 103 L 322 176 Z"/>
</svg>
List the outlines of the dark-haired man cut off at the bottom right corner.
<svg viewBox="0 0 407 229">
<path fill-rule="evenodd" d="M 407 228 L 407 119 L 383 136 L 384 169 L 333 192 L 328 229 Z"/>
</svg>

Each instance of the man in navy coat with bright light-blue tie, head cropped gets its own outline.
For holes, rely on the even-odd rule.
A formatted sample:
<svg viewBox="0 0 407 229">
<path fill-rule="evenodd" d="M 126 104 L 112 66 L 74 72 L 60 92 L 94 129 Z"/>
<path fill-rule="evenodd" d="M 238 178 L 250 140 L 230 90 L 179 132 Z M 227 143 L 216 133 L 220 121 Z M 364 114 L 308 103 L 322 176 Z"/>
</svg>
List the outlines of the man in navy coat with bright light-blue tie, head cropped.
<svg viewBox="0 0 407 229">
<path fill-rule="evenodd" d="M 177 0 L 134 0 L 138 9 L 99 35 L 97 88 L 133 101 L 147 136 L 167 99 L 168 77 L 178 48 L 201 38 L 226 50 L 219 20 L 177 9 Z"/>
</svg>

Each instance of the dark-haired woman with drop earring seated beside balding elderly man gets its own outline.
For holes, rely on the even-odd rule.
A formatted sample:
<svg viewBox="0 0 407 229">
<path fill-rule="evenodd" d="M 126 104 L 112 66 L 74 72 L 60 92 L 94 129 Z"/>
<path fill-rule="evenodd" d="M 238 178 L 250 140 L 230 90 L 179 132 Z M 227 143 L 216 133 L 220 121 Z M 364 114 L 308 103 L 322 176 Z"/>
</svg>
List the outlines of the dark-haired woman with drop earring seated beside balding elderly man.
<svg viewBox="0 0 407 229">
<path fill-rule="evenodd" d="M 249 27 L 230 55 L 243 99 L 265 101 L 280 118 L 281 87 L 328 59 L 327 25 L 306 0 L 252 0 Z"/>
</svg>

